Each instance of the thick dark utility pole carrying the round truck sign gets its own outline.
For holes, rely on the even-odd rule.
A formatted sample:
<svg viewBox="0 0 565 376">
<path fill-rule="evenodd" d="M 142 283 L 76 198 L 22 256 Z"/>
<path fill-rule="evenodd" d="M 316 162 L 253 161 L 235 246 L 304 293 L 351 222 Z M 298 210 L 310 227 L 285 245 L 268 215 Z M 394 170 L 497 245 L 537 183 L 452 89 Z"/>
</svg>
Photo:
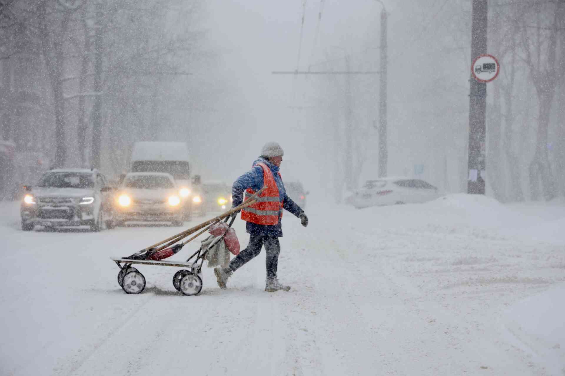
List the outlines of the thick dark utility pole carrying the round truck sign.
<svg viewBox="0 0 565 376">
<path fill-rule="evenodd" d="M 486 54 L 487 14 L 488 0 L 473 0 L 471 64 Z M 470 82 L 467 193 L 485 194 L 486 82 L 477 81 L 472 73 Z"/>
</svg>

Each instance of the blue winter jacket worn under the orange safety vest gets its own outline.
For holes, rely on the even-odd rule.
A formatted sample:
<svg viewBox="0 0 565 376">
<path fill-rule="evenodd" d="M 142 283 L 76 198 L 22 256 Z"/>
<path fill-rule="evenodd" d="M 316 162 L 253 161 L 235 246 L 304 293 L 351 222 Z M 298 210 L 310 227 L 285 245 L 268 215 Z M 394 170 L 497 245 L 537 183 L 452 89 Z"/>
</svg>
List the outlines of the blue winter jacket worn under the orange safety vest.
<svg viewBox="0 0 565 376">
<path fill-rule="evenodd" d="M 280 201 L 284 200 L 282 207 L 290 211 L 290 213 L 294 214 L 295 216 L 299 216 L 301 213 L 303 213 L 304 210 L 302 210 L 300 206 L 295 204 L 295 202 L 292 201 L 290 197 L 286 196 L 284 184 L 282 184 L 282 179 L 279 176 L 279 167 L 273 165 L 271 162 L 268 162 L 262 157 L 259 157 L 257 161 L 253 162 L 253 166 L 257 165 L 258 162 L 265 163 L 271 169 L 273 176 L 275 177 L 275 182 L 277 183 L 277 188 L 279 188 Z M 241 175 L 233 183 L 233 207 L 241 205 L 241 203 L 244 201 L 244 192 L 247 188 L 251 188 L 253 189 L 253 191 L 259 191 L 259 189 L 263 188 L 263 169 L 261 168 L 261 166 L 253 167 L 253 169 L 245 172 L 245 174 Z M 280 220 L 279 223 L 273 225 L 247 222 L 246 229 L 247 233 L 250 234 L 263 233 L 264 235 L 268 236 L 282 236 L 282 225 Z"/>
</svg>

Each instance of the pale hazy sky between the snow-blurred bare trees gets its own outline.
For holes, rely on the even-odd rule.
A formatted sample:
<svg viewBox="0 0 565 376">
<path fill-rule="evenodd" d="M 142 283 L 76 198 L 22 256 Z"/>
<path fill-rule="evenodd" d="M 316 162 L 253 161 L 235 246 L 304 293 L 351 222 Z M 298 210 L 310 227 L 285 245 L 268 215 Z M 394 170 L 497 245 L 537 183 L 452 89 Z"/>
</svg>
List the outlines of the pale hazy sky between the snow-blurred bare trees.
<svg viewBox="0 0 565 376">
<path fill-rule="evenodd" d="M 195 172 L 205 179 L 231 183 L 251 167 L 263 143 L 275 140 L 285 150 L 283 177 L 298 178 L 307 187 L 322 191 L 331 181 L 334 127 L 343 126 L 345 121 L 345 78 L 332 81 L 328 77 L 278 76 L 271 72 L 294 70 L 297 61 L 299 70 L 309 66 L 311 70 L 345 70 L 342 57 L 346 55 L 350 55 L 352 70 L 378 70 L 381 5 L 374 0 L 325 1 L 318 25 L 321 2 L 308 1 L 298 60 L 302 5 L 296 0 L 205 2 L 205 45 L 216 56 L 211 65 L 192 69 L 200 78 L 206 77 L 202 78 L 205 89 L 218 95 L 212 100 L 214 111 L 198 116 L 202 127 L 210 131 L 189 141 L 197 161 Z M 455 90 L 460 93 L 453 105 L 468 108 L 465 54 L 452 52 L 449 59 L 460 62 L 454 65 L 434 51 L 446 43 L 445 36 L 434 35 L 438 25 L 445 22 L 442 18 L 449 16 L 444 1 L 404 0 L 385 2 L 385 6 L 389 14 L 389 175 L 411 174 L 413 165 L 422 163 L 433 180 L 434 170 L 443 171 L 445 159 L 443 149 L 439 151 L 440 161 L 432 150 L 438 142 L 434 138 L 440 133 L 444 137 L 445 132 L 421 113 L 434 112 L 426 107 L 434 105 L 441 95 L 430 84 L 442 85 L 445 79 L 450 82 L 447 86 L 456 82 Z M 333 60 L 331 64 L 316 65 L 328 59 Z M 378 138 L 372 121 L 378 120 L 378 87 L 378 76 L 352 78 L 354 120 L 366 130 L 367 143 L 374 145 L 369 148 L 360 180 L 377 175 Z M 328 110 L 328 103 L 336 108 Z M 451 105 L 447 104 L 447 111 Z M 308 108 L 290 108 L 297 106 Z M 449 127 L 462 130 L 451 144 L 462 146 L 467 137 L 466 115 L 459 114 L 459 120 L 455 120 L 453 114 L 446 113 L 445 103 L 442 107 L 440 118 L 450 118 L 456 124 Z M 434 117 L 429 114 L 429 118 Z M 448 139 L 450 136 L 453 134 L 447 134 Z"/>
</svg>

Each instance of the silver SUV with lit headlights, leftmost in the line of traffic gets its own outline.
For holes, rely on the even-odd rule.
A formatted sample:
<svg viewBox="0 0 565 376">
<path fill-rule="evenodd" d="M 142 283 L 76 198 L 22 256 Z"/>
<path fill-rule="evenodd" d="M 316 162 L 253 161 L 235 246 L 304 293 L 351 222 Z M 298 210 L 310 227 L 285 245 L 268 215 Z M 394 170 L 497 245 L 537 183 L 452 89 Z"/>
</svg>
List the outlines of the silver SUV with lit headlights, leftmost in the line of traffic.
<svg viewBox="0 0 565 376">
<path fill-rule="evenodd" d="M 91 231 L 100 231 L 104 224 L 111 224 L 112 188 L 98 170 L 49 170 L 36 186 L 26 186 L 25 191 L 20 206 L 24 231 L 35 225 L 88 225 Z"/>
</svg>

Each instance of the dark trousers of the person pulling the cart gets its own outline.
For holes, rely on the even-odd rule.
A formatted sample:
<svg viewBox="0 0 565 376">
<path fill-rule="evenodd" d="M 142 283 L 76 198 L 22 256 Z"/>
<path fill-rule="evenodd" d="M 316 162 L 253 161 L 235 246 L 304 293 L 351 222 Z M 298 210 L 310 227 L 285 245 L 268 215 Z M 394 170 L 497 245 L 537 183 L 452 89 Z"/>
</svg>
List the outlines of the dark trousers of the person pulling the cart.
<svg viewBox="0 0 565 376">
<path fill-rule="evenodd" d="M 234 272 L 244 266 L 244 264 L 261 253 L 263 245 L 267 251 L 267 278 L 276 278 L 277 266 L 279 265 L 279 253 L 281 251 L 279 238 L 276 236 L 264 235 L 262 233 L 251 234 L 249 237 L 249 245 L 247 245 L 247 248 L 242 250 L 233 260 L 231 260 L 229 263 L 229 269 Z"/>
</svg>

